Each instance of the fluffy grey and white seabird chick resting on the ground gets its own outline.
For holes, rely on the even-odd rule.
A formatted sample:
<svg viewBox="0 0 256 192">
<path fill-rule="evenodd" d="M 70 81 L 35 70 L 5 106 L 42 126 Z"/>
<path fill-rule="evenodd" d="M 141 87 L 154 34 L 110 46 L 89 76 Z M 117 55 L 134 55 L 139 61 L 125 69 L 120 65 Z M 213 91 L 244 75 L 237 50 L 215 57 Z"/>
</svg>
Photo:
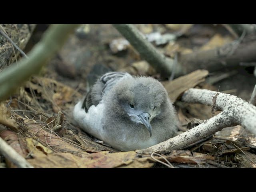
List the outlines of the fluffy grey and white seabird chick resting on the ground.
<svg viewBox="0 0 256 192">
<path fill-rule="evenodd" d="M 77 126 L 120 151 L 148 148 L 175 136 L 176 110 L 160 81 L 107 72 L 73 110 Z"/>
</svg>

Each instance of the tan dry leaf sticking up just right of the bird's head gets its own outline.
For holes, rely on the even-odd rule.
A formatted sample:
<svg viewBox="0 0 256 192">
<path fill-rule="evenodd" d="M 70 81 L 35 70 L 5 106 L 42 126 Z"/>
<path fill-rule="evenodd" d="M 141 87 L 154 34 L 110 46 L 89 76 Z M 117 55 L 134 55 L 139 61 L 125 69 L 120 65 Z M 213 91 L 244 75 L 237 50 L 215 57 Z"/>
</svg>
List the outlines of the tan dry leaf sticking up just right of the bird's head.
<svg viewBox="0 0 256 192">
<path fill-rule="evenodd" d="M 196 70 L 172 81 L 163 81 L 162 84 L 166 88 L 170 100 L 175 102 L 184 91 L 204 82 L 208 74 L 209 72 L 207 70 Z"/>
</svg>

